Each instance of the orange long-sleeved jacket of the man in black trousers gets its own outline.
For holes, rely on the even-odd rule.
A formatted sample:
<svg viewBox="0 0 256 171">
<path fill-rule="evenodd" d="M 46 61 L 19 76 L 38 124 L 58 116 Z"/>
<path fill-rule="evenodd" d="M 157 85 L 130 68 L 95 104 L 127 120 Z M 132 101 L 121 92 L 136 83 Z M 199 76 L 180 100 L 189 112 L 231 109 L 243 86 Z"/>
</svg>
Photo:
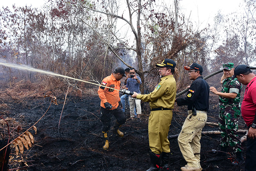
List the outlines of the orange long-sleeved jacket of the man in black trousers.
<svg viewBox="0 0 256 171">
<path fill-rule="evenodd" d="M 112 73 L 102 80 L 101 85 L 120 90 L 121 81 L 117 81 Z M 120 101 L 119 91 L 106 87 L 100 86 L 98 90 L 98 95 L 101 99 L 101 107 L 105 108 L 104 103 L 108 102 L 113 106 L 111 110 L 116 109 L 118 107 L 118 102 Z"/>
</svg>

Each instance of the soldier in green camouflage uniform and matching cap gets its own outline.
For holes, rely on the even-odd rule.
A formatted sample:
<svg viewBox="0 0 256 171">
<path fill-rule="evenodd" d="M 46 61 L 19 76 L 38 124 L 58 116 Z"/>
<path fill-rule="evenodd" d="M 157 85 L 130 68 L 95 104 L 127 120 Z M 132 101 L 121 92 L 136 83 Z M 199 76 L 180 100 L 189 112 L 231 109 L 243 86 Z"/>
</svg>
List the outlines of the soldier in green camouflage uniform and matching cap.
<svg viewBox="0 0 256 171">
<path fill-rule="evenodd" d="M 234 64 L 223 64 L 223 76 L 221 78 L 222 89 L 218 92 L 216 88 L 210 87 L 210 91 L 216 95 L 219 95 L 219 130 L 221 132 L 220 151 L 226 152 L 227 147 L 233 149 L 236 152 L 237 161 L 233 161 L 232 164 L 241 164 L 243 162 L 242 146 L 240 138 L 237 135 L 238 118 L 241 114 L 240 93 L 242 85 L 235 78 Z M 223 155 L 223 153 L 221 153 Z"/>
</svg>

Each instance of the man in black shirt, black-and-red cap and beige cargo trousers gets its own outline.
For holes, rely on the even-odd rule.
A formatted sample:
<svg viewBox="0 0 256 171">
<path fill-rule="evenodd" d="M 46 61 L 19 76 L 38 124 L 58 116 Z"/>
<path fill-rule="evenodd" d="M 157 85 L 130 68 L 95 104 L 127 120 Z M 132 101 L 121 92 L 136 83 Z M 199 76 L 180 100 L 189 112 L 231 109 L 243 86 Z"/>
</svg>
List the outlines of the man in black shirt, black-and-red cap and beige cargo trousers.
<svg viewBox="0 0 256 171">
<path fill-rule="evenodd" d="M 190 80 L 193 80 L 185 98 L 178 98 L 175 101 L 178 106 L 188 106 L 188 117 L 183 123 L 181 132 L 178 136 L 180 151 L 187 161 L 182 171 L 201 171 L 200 166 L 200 139 L 201 132 L 207 121 L 206 111 L 209 109 L 210 89 L 202 77 L 203 67 L 193 63 L 184 66 L 188 70 Z"/>
</svg>

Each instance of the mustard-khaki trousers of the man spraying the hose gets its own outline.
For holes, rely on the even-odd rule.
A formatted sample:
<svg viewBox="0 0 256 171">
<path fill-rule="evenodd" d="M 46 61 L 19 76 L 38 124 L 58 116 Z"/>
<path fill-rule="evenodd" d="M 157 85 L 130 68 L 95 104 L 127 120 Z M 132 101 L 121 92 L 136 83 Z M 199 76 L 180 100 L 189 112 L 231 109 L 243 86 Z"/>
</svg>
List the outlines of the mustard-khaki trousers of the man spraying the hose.
<svg viewBox="0 0 256 171">
<path fill-rule="evenodd" d="M 167 138 L 173 117 L 173 111 L 151 111 L 148 119 L 149 147 L 153 153 L 170 152 L 170 142 Z"/>
</svg>

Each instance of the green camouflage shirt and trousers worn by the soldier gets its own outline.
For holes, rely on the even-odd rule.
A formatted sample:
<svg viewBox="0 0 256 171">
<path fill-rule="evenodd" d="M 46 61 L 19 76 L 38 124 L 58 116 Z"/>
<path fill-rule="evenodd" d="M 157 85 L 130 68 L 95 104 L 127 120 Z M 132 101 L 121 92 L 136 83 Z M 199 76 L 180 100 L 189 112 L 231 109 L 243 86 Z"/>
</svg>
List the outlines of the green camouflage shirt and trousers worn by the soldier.
<svg viewBox="0 0 256 171">
<path fill-rule="evenodd" d="M 240 93 L 242 85 L 235 78 L 231 77 L 223 80 L 222 91 L 223 93 L 236 93 L 234 99 L 224 98 L 219 96 L 219 129 L 221 132 L 222 147 L 231 147 L 234 152 L 241 152 L 242 146 L 240 138 L 237 135 L 238 118 L 241 114 Z"/>
</svg>

